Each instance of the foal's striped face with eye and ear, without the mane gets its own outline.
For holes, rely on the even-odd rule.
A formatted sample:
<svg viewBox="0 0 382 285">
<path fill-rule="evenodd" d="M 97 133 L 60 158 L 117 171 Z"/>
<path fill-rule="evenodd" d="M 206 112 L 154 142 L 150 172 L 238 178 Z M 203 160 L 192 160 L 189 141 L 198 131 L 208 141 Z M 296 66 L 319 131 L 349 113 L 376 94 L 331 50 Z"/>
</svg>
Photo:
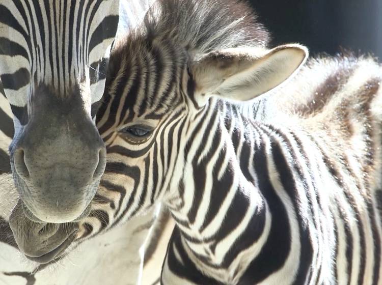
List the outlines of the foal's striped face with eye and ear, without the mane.
<svg viewBox="0 0 382 285">
<path fill-rule="evenodd" d="M 307 55 L 304 47 L 286 45 L 227 49 L 195 60 L 171 44 L 132 36 L 111 55 L 97 127 L 107 150 L 101 189 L 124 193 L 125 201 L 115 203 L 126 207 L 116 211 L 117 221 L 118 214 L 135 215 L 162 197 L 178 198 L 173 194 L 193 173 L 194 140 L 209 131 L 213 98 L 253 99 L 285 81 Z"/>
</svg>

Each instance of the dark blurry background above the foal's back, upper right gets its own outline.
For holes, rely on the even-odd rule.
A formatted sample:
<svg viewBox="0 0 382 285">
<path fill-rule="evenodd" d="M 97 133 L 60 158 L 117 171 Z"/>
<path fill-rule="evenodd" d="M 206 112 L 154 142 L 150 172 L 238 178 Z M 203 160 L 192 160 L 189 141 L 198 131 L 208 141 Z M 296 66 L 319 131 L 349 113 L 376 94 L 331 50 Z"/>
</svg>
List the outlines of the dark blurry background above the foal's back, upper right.
<svg viewBox="0 0 382 285">
<path fill-rule="evenodd" d="M 382 60 L 382 0 L 249 0 L 271 46 L 298 42 L 311 54 L 341 47 Z"/>
</svg>

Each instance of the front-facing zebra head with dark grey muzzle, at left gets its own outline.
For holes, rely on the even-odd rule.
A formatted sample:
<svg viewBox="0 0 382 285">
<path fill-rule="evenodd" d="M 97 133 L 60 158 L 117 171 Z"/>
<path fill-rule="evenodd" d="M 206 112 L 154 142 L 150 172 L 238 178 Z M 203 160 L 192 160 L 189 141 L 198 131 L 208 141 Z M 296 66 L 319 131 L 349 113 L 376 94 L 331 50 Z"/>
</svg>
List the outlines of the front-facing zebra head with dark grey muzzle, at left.
<svg viewBox="0 0 382 285">
<path fill-rule="evenodd" d="M 0 78 L 15 126 L 11 167 L 27 217 L 88 213 L 106 152 L 94 123 L 118 0 L 0 0 Z"/>
</svg>

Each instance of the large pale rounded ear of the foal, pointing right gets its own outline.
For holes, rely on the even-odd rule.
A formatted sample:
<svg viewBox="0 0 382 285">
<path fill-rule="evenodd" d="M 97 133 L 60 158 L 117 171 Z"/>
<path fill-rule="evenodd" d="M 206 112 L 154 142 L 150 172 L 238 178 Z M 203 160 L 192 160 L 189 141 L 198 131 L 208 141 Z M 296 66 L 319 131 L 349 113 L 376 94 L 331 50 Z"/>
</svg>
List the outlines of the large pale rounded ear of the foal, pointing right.
<svg viewBox="0 0 382 285">
<path fill-rule="evenodd" d="M 298 44 L 274 49 L 230 48 L 203 55 L 191 65 L 196 98 L 201 105 L 211 95 L 251 100 L 291 77 L 308 57 Z"/>
</svg>

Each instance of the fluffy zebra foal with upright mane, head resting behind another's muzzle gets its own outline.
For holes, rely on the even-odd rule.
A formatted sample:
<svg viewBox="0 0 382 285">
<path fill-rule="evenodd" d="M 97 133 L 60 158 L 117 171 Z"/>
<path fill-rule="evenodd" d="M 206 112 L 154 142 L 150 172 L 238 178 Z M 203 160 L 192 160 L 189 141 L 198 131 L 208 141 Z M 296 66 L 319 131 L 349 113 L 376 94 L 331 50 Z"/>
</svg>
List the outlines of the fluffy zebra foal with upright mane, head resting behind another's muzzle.
<svg viewBox="0 0 382 285">
<path fill-rule="evenodd" d="M 312 59 L 272 90 L 306 50 L 266 49 L 248 11 L 159 0 L 112 51 L 98 126 L 119 213 L 170 209 L 162 284 L 380 284 L 381 67 Z"/>
</svg>

